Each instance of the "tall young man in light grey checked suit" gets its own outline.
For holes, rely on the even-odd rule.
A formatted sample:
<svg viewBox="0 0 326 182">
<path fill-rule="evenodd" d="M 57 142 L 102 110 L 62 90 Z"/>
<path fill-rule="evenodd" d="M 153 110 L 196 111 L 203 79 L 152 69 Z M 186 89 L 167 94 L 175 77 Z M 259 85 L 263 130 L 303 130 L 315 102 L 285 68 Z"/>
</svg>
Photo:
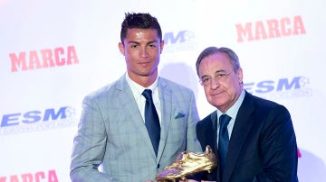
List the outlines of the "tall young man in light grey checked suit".
<svg viewBox="0 0 326 182">
<path fill-rule="evenodd" d="M 193 92 L 158 77 L 164 47 L 158 20 L 150 14 L 125 15 L 119 49 L 127 72 L 83 100 L 72 150 L 74 182 L 154 181 L 181 151 L 202 151 Z M 144 89 L 151 89 L 158 113 L 158 147 L 146 127 Z"/>
</svg>

